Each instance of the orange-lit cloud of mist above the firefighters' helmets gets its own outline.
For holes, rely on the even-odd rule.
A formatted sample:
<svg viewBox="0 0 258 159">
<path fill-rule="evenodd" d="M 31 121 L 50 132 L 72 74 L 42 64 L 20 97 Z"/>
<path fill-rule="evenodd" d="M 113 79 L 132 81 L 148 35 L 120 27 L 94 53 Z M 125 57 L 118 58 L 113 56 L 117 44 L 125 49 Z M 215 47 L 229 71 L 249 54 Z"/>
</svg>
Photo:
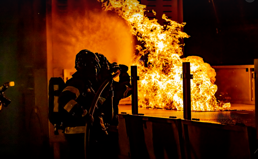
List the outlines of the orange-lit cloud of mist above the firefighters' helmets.
<svg viewBox="0 0 258 159">
<path fill-rule="evenodd" d="M 52 12 L 54 68 L 74 69 L 75 55 L 83 49 L 129 66 L 134 43 L 128 24 L 114 12 L 87 6 L 83 13 Z"/>
</svg>

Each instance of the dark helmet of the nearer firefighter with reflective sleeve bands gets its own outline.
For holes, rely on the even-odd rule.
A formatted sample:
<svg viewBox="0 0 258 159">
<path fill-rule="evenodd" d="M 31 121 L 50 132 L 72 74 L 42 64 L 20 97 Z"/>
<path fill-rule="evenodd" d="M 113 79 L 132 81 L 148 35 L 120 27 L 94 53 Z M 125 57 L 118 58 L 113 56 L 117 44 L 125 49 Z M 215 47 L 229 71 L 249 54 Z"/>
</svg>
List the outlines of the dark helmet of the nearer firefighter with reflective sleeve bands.
<svg viewBox="0 0 258 159">
<path fill-rule="evenodd" d="M 99 59 L 90 50 L 81 50 L 75 57 L 75 69 L 97 74 L 100 70 Z"/>
</svg>

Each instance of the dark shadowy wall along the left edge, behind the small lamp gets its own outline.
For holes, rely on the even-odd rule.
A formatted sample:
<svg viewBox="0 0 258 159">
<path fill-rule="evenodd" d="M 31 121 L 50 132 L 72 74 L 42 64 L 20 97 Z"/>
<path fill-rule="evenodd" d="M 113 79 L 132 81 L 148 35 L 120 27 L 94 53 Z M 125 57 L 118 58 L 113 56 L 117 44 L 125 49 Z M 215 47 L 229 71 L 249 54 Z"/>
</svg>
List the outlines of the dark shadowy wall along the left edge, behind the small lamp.
<svg viewBox="0 0 258 159">
<path fill-rule="evenodd" d="M 0 1 L 0 85 L 14 81 L 0 112 L 0 158 L 47 158 L 46 5 Z"/>
</svg>

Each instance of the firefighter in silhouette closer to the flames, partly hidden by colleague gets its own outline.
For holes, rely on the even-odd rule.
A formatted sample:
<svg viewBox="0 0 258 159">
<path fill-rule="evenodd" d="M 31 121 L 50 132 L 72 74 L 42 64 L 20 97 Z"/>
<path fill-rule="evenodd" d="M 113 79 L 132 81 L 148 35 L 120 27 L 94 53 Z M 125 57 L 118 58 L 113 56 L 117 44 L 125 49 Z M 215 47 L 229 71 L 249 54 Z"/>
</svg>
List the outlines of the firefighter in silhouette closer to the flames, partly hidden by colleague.
<svg viewBox="0 0 258 159">
<path fill-rule="evenodd" d="M 98 100 L 104 112 L 104 124 L 107 130 L 105 139 L 106 148 L 104 153 L 108 158 L 118 158 L 118 104 L 123 98 L 131 95 L 130 76 L 127 73 L 126 65 L 118 65 L 116 62 L 110 63 L 108 59 L 99 53 L 95 53 L 99 59 L 101 69 L 97 75 L 98 85 L 101 85 L 106 79 L 111 79 Z M 120 70 L 119 82 L 112 80 L 112 73 Z"/>
</svg>

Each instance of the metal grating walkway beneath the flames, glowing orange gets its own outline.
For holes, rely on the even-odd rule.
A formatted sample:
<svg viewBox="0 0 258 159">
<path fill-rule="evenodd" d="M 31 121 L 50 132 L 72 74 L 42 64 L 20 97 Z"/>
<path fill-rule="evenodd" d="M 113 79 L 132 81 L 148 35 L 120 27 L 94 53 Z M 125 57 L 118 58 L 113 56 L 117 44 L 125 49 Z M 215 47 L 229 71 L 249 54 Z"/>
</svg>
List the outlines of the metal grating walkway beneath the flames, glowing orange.
<svg viewBox="0 0 258 159">
<path fill-rule="evenodd" d="M 231 111 L 192 112 L 191 117 L 201 121 L 221 124 L 240 124 L 255 127 L 255 105 L 231 104 Z M 132 114 L 131 105 L 119 105 L 119 114 Z M 138 108 L 138 113 L 152 117 L 177 117 L 183 119 L 183 111 Z"/>
</svg>

